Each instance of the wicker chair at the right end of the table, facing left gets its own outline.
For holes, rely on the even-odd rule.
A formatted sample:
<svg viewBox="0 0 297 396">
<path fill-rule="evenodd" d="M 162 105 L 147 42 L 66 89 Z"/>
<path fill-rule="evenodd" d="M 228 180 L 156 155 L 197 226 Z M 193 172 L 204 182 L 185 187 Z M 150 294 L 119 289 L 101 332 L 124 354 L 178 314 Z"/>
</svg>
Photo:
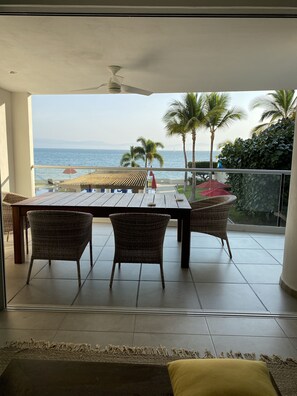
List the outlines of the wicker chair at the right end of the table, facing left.
<svg viewBox="0 0 297 396">
<path fill-rule="evenodd" d="M 230 207 L 236 201 L 235 195 L 220 195 L 191 202 L 191 232 L 216 236 L 227 243 L 230 258 L 231 248 L 227 236 L 227 221 Z"/>
</svg>

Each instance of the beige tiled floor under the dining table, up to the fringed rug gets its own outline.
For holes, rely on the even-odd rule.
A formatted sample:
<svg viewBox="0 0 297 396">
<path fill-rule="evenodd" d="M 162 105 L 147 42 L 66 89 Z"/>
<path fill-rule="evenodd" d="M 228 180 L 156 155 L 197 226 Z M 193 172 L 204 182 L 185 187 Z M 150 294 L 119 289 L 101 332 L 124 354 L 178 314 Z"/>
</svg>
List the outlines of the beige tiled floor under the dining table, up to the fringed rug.
<svg viewBox="0 0 297 396">
<path fill-rule="evenodd" d="M 232 260 L 218 239 L 192 235 L 190 269 L 182 270 L 176 230 L 169 228 L 165 290 L 157 265 L 126 264 L 110 291 L 112 229 L 93 229 L 95 266 L 90 271 L 86 250 L 80 290 L 69 262 L 49 268 L 36 261 L 25 285 L 28 260 L 15 265 L 12 240 L 5 244 L 8 310 L 0 313 L 0 345 L 34 338 L 297 358 L 297 300 L 278 285 L 283 235 L 229 232 Z"/>
</svg>

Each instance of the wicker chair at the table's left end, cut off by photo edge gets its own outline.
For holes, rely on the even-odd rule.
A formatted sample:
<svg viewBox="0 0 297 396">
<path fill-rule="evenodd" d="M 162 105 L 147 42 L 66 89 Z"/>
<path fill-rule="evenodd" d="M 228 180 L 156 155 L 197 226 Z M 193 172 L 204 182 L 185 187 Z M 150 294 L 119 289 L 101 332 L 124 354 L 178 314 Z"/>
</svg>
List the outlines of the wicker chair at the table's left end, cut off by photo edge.
<svg viewBox="0 0 297 396">
<path fill-rule="evenodd" d="M 9 240 L 9 235 L 13 231 L 13 219 L 12 219 L 12 207 L 11 205 L 20 201 L 23 201 L 24 199 L 27 199 L 28 197 L 25 197 L 20 194 L 16 193 L 11 193 L 11 192 L 2 192 L 2 215 L 3 215 L 3 228 L 4 228 L 4 233 L 7 233 L 7 242 Z M 24 229 L 25 229 L 25 235 L 26 235 L 26 253 L 29 253 L 29 243 L 28 243 L 28 228 L 30 227 L 29 221 L 26 218 L 25 219 L 25 224 L 24 224 Z"/>
</svg>

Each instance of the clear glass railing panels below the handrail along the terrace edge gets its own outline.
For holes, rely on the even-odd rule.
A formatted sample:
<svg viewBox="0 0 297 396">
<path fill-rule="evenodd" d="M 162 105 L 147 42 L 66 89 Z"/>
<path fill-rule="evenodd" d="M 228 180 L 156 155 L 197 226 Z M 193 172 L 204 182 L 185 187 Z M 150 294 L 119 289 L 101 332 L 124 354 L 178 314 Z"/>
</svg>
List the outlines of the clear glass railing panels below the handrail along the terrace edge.
<svg viewBox="0 0 297 396">
<path fill-rule="evenodd" d="M 233 194 L 236 204 L 229 221 L 234 224 L 285 226 L 290 172 L 195 169 L 195 200 Z M 186 175 L 186 178 L 185 178 Z M 47 191 L 113 193 L 192 192 L 193 169 L 35 167 L 36 195 Z"/>
</svg>

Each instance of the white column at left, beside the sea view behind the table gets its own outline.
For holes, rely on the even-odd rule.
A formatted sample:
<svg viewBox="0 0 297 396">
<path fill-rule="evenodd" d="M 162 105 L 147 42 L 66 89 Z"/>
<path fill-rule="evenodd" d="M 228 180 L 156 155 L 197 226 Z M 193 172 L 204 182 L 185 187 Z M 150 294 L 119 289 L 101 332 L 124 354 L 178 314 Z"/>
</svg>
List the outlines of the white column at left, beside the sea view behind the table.
<svg viewBox="0 0 297 396">
<path fill-rule="evenodd" d="M 31 95 L 11 94 L 15 191 L 35 195 Z"/>
</svg>

